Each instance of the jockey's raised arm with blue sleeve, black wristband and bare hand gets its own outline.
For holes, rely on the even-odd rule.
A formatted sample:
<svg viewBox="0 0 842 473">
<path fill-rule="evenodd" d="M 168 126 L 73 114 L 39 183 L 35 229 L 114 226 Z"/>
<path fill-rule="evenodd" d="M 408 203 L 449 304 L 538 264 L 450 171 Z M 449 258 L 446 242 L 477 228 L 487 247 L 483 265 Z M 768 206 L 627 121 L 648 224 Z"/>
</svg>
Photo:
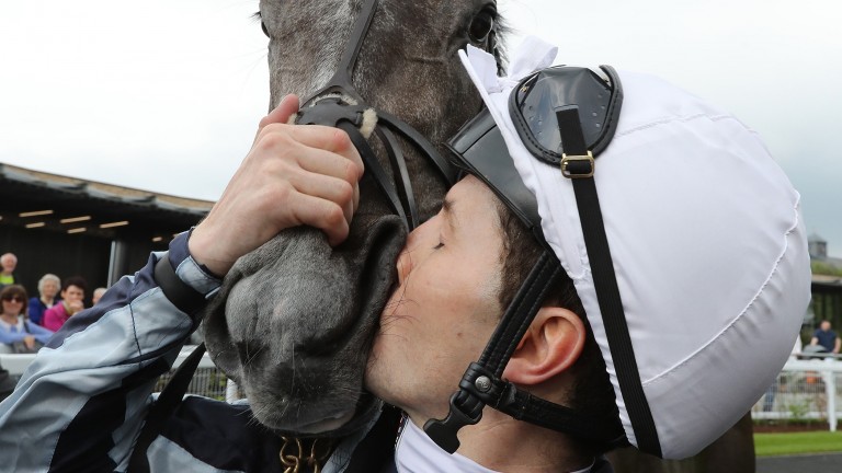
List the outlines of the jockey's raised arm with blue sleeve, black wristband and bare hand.
<svg viewBox="0 0 842 473">
<path fill-rule="evenodd" d="M 159 287 L 155 267 L 161 258 L 181 282 L 209 298 L 219 287 L 213 274 L 224 275 L 285 228 L 317 227 L 333 243 L 346 236 L 362 161 L 340 130 L 283 125 L 297 107 L 296 97 L 286 97 L 261 122 L 251 151 L 191 235 L 182 233 L 167 253 L 152 254 L 42 349 L 0 404 L 0 465 L 125 469 L 155 380 L 200 322 Z"/>
</svg>

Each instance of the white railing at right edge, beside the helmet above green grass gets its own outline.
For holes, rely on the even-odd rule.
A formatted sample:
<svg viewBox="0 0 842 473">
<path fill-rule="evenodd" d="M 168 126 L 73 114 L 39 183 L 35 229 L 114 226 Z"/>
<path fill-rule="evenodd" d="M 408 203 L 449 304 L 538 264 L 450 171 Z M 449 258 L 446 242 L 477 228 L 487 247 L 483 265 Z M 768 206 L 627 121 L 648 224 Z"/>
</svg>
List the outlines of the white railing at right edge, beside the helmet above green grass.
<svg viewBox="0 0 842 473">
<path fill-rule="evenodd" d="M 842 359 L 826 356 L 790 359 L 769 391 L 754 404 L 755 420 L 827 422 L 837 430 L 842 412 Z"/>
</svg>

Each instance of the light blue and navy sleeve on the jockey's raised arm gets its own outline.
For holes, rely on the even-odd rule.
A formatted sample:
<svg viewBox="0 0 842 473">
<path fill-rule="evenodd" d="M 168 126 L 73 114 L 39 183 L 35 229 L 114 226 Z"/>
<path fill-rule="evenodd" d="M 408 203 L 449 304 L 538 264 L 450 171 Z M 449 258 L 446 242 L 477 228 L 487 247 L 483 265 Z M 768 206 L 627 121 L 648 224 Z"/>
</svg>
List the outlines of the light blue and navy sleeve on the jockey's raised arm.
<svg viewBox="0 0 842 473">
<path fill-rule="evenodd" d="M 125 470 L 155 381 L 197 325 L 158 287 L 155 264 L 169 257 L 179 279 L 205 298 L 219 288 L 190 256 L 187 238 L 182 233 L 169 252 L 153 253 L 38 353 L 0 403 L 2 470 Z"/>
</svg>

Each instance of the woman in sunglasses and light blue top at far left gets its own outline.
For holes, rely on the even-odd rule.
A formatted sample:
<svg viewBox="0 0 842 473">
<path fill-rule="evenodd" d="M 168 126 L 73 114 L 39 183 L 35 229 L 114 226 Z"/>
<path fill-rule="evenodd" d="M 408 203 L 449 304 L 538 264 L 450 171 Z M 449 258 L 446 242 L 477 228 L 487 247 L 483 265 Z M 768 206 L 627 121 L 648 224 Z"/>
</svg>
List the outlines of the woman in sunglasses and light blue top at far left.
<svg viewBox="0 0 842 473">
<path fill-rule="evenodd" d="M 26 321 L 26 289 L 11 285 L 0 290 L 0 350 L 5 353 L 35 353 L 53 332 Z"/>
</svg>

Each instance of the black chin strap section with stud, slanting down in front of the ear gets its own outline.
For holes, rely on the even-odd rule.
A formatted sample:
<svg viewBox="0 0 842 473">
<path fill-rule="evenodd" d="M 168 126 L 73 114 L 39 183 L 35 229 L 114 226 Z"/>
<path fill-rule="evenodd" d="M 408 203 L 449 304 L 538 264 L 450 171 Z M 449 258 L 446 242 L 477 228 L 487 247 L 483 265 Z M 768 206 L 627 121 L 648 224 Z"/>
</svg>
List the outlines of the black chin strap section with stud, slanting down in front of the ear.
<svg viewBox="0 0 842 473">
<path fill-rule="evenodd" d="M 560 276 L 561 265 L 554 254 L 545 250 L 505 310 L 479 361 L 465 371 L 459 391 L 451 396 L 447 417 L 444 420 L 430 419 L 424 424 L 426 435 L 443 450 L 455 452 L 459 448 L 459 429 L 478 423 L 486 404 L 499 405 L 503 394 L 512 392 L 503 389 L 509 383 L 501 381 L 500 376 L 535 319 L 547 291 Z"/>
</svg>

